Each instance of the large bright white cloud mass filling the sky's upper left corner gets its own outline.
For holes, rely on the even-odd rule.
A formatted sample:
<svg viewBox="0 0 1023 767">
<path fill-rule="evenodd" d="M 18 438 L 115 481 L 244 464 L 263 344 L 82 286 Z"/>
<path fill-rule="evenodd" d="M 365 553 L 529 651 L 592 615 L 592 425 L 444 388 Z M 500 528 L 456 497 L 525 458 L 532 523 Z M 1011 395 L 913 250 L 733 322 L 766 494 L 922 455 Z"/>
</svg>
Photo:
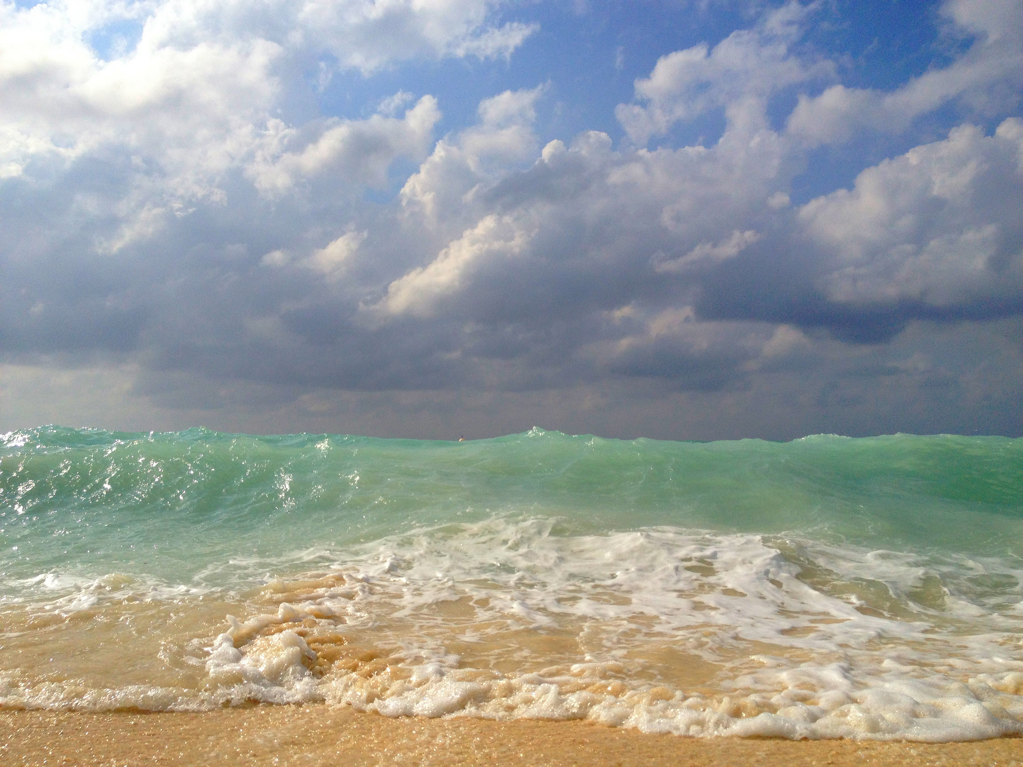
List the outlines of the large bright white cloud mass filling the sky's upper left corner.
<svg viewBox="0 0 1023 767">
<path fill-rule="evenodd" d="M 370 73 L 415 57 L 506 57 L 534 28 L 490 26 L 494 6 L 4 1 L 0 178 L 48 180 L 90 159 L 129 159 L 102 202 L 122 220 L 101 237 L 107 252 L 150 236 L 197 200 L 222 201 L 225 177 L 239 168 L 268 193 L 324 173 L 379 186 L 395 157 L 429 152 L 436 100 L 424 97 L 403 120 L 288 122 L 281 107 L 309 91 L 303 69 L 319 60 L 327 73 Z"/>
</svg>

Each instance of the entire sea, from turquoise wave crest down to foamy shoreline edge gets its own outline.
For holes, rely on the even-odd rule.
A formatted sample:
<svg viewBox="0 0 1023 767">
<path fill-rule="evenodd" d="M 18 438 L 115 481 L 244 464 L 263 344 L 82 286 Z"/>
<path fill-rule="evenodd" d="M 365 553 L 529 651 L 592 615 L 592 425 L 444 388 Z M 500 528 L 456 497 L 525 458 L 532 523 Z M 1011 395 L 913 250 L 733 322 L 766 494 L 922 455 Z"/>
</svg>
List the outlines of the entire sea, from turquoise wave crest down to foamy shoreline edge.
<svg viewBox="0 0 1023 767">
<path fill-rule="evenodd" d="M 0 445 L 0 706 L 1023 732 L 1021 440 Z"/>
</svg>

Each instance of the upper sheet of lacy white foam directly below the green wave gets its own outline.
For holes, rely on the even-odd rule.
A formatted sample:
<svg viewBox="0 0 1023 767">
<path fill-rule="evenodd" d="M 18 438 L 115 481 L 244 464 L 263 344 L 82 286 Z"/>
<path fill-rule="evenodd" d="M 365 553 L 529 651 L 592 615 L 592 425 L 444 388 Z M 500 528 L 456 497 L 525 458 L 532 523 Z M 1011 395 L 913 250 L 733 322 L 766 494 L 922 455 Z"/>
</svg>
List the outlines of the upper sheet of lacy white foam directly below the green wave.
<svg viewBox="0 0 1023 767">
<path fill-rule="evenodd" d="M 836 547 L 784 541 L 828 568 L 836 581 L 883 586 L 903 613 L 903 620 L 891 620 L 857 610 L 866 602 L 852 591 L 837 598 L 808 585 L 800 566 L 761 536 L 649 529 L 562 538 L 549 535 L 550 527 L 547 521 L 494 520 L 457 531 L 422 531 L 339 554 L 335 568 L 374 587 L 371 596 L 362 595 L 374 613 L 412 615 L 468 599 L 477 622 L 504 629 L 549 628 L 569 618 L 630 626 L 651 619 L 646 633 L 671 633 L 683 641 L 694 628 L 719 627 L 711 642 L 718 647 L 738 639 L 831 650 L 878 640 L 930 640 L 935 617 L 968 619 L 975 632 L 984 630 L 978 633 L 1009 628 L 1002 614 L 966 597 L 940 616 L 914 602 L 907 595 L 931 572 L 909 555 L 895 559 L 849 549 L 840 556 Z M 321 596 L 318 603 L 330 598 Z M 346 599 L 337 606 L 351 605 Z"/>
</svg>

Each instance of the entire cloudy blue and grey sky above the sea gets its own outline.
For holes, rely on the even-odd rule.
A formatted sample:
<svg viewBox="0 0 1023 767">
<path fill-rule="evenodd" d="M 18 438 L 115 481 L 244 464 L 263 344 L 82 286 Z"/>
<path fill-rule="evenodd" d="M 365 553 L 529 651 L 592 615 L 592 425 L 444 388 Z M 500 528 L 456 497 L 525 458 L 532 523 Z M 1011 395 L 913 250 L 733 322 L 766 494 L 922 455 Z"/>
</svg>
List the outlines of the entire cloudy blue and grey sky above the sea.
<svg viewBox="0 0 1023 767">
<path fill-rule="evenodd" d="M 0 0 L 0 431 L 1023 435 L 1023 0 Z"/>
</svg>

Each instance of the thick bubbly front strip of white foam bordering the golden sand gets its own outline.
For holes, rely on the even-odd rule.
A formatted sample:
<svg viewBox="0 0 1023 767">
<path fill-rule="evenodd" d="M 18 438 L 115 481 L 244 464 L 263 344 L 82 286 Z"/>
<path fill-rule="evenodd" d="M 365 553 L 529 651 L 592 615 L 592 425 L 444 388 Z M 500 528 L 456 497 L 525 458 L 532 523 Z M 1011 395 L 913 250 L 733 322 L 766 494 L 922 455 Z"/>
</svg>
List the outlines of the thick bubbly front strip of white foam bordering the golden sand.
<svg viewBox="0 0 1023 767">
<path fill-rule="evenodd" d="M 598 670 L 544 677 L 531 674 L 479 680 L 475 672 L 437 669 L 421 681 L 373 685 L 347 675 L 325 685 L 326 700 L 385 716 L 476 716 L 489 719 L 590 719 L 644 732 L 682 735 L 762 735 L 790 738 L 967 740 L 1023 732 L 1023 709 L 1007 711 L 951 680 L 906 682 L 853 690 L 848 670 L 838 676 L 849 691 L 785 687 L 772 694 L 686 696 L 663 687 L 626 688 L 620 694 L 577 689 L 599 682 Z M 834 668 L 791 676 L 833 682 Z M 783 682 L 784 679 L 775 679 Z M 601 686 L 601 685 L 595 685 Z M 566 691 L 569 690 L 569 691 Z M 1005 700 L 1005 695 L 1000 700 Z"/>
</svg>

